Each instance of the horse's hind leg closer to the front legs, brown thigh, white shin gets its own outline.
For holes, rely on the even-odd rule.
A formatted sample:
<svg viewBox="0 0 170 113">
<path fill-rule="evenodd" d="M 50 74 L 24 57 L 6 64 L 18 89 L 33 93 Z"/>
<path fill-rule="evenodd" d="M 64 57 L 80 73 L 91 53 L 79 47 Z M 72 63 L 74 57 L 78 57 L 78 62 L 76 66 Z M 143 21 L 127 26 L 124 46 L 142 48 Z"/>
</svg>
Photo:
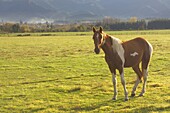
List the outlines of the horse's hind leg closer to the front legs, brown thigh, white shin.
<svg viewBox="0 0 170 113">
<path fill-rule="evenodd" d="M 135 85 L 133 86 L 133 89 L 132 89 L 132 93 L 131 93 L 131 97 L 134 97 L 135 96 L 135 92 L 136 92 L 136 88 L 138 86 L 138 84 L 140 83 L 140 79 L 142 77 L 142 72 L 141 70 L 139 69 L 139 64 L 136 65 L 135 67 L 133 67 L 133 70 L 135 71 L 135 73 L 137 74 L 137 77 L 136 77 L 136 82 L 135 82 Z"/>
</svg>

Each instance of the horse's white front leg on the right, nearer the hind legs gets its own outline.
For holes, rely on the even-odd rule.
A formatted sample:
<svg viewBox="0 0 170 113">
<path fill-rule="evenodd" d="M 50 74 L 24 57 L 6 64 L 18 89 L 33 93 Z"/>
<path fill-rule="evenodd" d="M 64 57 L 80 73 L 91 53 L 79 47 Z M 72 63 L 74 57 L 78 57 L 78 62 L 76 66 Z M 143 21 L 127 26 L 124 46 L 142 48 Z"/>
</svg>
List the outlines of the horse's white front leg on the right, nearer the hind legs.
<svg viewBox="0 0 170 113">
<path fill-rule="evenodd" d="M 125 101 L 128 101 L 129 98 L 128 98 L 128 91 L 126 89 L 126 82 L 125 82 L 125 79 L 124 79 L 124 70 L 123 69 L 119 70 L 119 73 L 120 73 L 120 77 L 121 77 L 121 83 L 122 83 L 123 88 L 124 88 Z"/>
</svg>

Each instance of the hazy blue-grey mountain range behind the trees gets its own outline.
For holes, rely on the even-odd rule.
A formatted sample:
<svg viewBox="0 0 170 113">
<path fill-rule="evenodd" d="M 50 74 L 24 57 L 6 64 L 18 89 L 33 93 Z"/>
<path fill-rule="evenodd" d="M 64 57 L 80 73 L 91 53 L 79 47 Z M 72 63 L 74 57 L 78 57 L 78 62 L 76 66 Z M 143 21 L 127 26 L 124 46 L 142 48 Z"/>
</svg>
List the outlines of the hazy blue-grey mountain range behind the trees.
<svg viewBox="0 0 170 113">
<path fill-rule="evenodd" d="M 170 0 L 0 0 L 0 19 L 100 20 L 114 18 L 170 18 Z"/>
</svg>

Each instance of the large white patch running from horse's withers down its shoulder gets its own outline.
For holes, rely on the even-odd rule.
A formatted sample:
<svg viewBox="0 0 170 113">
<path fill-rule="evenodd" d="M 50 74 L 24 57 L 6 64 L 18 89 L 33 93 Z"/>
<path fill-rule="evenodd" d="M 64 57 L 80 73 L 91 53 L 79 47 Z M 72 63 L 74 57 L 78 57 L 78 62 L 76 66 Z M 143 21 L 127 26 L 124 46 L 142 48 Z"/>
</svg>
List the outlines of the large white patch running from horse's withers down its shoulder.
<svg viewBox="0 0 170 113">
<path fill-rule="evenodd" d="M 121 58 L 122 60 L 122 67 L 124 67 L 124 63 L 125 63 L 125 57 L 124 57 L 124 48 L 121 44 L 121 40 L 118 39 L 118 38 L 115 38 L 115 37 L 111 37 L 112 38 L 112 48 L 113 48 L 113 51 L 116 51 L 119 55 L 119 57 Z"/>
</svg>

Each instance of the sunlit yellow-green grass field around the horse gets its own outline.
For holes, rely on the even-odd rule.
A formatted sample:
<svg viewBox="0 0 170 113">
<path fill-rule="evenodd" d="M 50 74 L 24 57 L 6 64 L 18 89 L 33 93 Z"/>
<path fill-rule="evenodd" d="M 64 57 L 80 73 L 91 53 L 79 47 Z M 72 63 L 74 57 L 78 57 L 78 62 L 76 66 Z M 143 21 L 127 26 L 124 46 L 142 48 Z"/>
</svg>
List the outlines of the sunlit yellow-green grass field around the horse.
<svg viewBox="0 0 170 113">
<path fill-rule="evenodd" d="M 113 101 L 104 53 L 93 53 L 92 32 L 0 37 L 0 112 L 170 112 L 170 30 L 108 32 L 122 40 L 144 37 L 153 45 L 144 97 L 124 102 L 118 76 Z M 50 34 L 50 33 L 47 33 Z M 129 96 L 136 78 L 125 69 Z M 137 94 L 142 84 L 139 84 Z"/>
</svg>

